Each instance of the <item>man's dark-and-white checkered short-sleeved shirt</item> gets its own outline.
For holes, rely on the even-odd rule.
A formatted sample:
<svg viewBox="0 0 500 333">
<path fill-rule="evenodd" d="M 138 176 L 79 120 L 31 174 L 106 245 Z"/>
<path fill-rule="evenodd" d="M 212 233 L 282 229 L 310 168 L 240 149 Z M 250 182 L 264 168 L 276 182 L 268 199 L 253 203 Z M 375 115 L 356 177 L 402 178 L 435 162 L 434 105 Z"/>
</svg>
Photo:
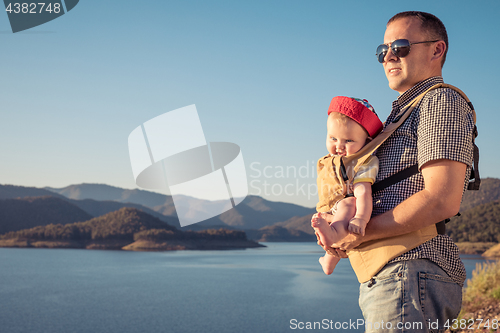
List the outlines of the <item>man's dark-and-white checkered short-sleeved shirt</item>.
<svg viewBox="0 0 500 333">
<path fill-rule="evenodd" d="M 442 77 L 432 77 L 406 91 L 392 104 L 389 124 L 415 97 L 442 83 Z M 473 160 L 472 133 L 474 120 L 467 102 L 454 90 L 434 89 L 422 98 L 408 119 L 380 146 L 376 155 L 380 169 L 377 181 L 418 163 L 448 159 L 465 163 L 464 191 L 469 182 Z M 424 189 L 421 173 L 394 184 L 373 196 L 373 215 L 382 214 Z M 437 222 L 437 221 L 436 221 Z M 456 283 L 463 286 L 465 268 L 457 246 L 447 235 L 437 235 L 424 244 L 402 254 L 389 263 L 429 259 L 440 266 Z"/>
</svg>

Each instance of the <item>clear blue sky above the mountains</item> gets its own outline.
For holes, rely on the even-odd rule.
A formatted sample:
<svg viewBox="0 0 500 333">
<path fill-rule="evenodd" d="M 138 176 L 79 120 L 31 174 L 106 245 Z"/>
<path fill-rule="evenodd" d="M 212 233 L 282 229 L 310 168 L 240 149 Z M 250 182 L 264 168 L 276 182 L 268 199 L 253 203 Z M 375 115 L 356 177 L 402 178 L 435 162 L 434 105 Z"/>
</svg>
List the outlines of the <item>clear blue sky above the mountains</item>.
<svg viewBox="0 0 500 333">
<path fill-rule="evenodd" d="M 313 207 L 330 100 L 389 115 L 375 49 L 407 10 L 445 24 L 444 80 L 475 106 L 481 176 L 500 178 L 498 1 L 81 0 L 18 33 L 0 13 L 0 184 L 138 188 L 129 134 L 195 104 L 208 142 L 240 146 L 249 194 Z"/>
</svg>

